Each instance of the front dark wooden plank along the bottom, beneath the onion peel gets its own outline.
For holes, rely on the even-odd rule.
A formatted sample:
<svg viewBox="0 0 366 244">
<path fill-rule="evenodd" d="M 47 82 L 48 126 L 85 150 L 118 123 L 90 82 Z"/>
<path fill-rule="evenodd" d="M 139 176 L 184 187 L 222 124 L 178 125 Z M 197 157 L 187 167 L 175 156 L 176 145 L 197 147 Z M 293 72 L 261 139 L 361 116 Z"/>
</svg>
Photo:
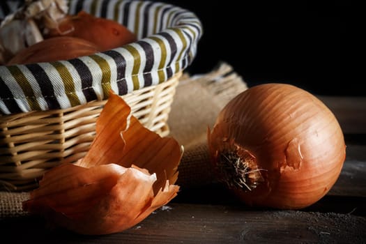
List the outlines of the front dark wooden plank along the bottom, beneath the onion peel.
<svg viewBox="0 0 366 244">
<path fill-rule="evenodd" d="M 132 229 L 106 236 L 50 230 L 43 220 L 0 222 L 2 240 L 33 243 L 364 243 L 366 219 L 337 213 L 248 211 L 241 206 L 169 204 Z"/>
</svg>

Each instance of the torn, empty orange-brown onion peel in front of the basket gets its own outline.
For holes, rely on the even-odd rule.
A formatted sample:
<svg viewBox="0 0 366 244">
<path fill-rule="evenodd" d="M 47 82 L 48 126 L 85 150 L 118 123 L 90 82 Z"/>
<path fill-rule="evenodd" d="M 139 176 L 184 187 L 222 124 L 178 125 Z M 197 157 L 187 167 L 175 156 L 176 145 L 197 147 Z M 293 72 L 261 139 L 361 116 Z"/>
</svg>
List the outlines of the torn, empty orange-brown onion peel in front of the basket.
<svg viewBox="0 0 366 244">
<path fill-rule="evenodd" d="M 176 197 L 182 153 L 111 92 L 85 157 L 47 171 L 23 209 L 79 234 L 124 231 Z"/>
</svg>

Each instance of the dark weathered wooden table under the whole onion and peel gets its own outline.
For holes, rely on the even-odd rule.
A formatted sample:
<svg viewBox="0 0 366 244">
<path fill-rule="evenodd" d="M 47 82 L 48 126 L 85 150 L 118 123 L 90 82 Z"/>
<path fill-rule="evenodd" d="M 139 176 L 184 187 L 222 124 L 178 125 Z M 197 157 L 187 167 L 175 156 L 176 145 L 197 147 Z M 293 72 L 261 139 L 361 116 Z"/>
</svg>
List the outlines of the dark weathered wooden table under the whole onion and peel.
<svg viewBox="0 0 366 244">
<path fill-rule="evenodd" d="M 308 208 L 250 208 L 216 183 L 182 189 L 119 234 L 80 236 L 22 217 L 0 221 L 0 243 L 366 243 L 366 98 L 321 99 L 340 121 L 347 155 L 337 183 Z"/>
</svg>

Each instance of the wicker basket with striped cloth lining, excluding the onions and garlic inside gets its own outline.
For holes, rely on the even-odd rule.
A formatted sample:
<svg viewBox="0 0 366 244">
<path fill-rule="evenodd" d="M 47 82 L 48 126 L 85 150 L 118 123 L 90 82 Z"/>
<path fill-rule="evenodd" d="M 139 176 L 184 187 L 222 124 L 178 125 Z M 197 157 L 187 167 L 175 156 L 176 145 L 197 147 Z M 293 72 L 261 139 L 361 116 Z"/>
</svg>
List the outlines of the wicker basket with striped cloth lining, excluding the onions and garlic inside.
<svg viewBox="0 0 366 244">
<path fill-rule="evenodd" d="M 138 41 L 70 61 L 0 66 L 3 190 L 36 188 L 47 169 L 82 158 L 110 90 L 128 102 L 146 128 L 169 134 L 178 79 L 201 36 L 197 17 L 151 1 L 72 0 L 69 6 L 70 13 L 86 10 L 121 22 L 137 33 Z"/>
</svg>

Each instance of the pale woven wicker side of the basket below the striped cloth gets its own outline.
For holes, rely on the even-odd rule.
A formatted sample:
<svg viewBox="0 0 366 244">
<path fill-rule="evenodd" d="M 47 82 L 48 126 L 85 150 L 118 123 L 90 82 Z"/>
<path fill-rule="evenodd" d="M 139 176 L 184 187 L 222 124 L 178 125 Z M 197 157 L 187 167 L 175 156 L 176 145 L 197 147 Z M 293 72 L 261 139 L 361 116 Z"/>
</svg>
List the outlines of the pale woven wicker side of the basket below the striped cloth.
<svg viewBox="0 0 366 244">
<path fill-rule="evenodd" d="M 161 136 L 169 134 L 167 119 L 180 76 L 123 96 L 132 114 Z M 93 141 L 105 102 L 0 116 L 1 188 L 35 188 L 47 169 L 82 158 Z"/>
</svg>

